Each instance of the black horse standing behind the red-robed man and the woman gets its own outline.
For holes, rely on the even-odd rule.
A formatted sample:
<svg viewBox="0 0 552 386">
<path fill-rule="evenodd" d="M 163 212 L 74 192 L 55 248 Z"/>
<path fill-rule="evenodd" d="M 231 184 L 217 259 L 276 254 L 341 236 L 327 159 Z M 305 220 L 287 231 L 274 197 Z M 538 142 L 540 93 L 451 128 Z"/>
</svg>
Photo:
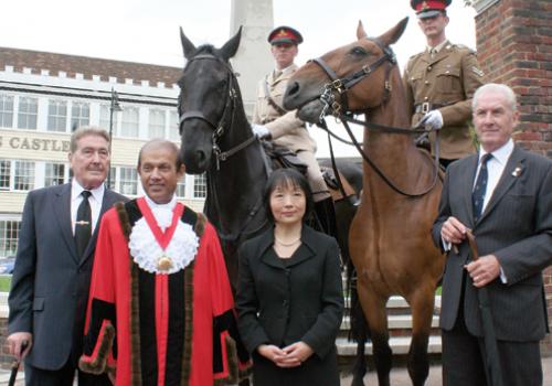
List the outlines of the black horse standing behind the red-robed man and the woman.
<svg viewBox="0 0 552 386">
<path fill-rule="evenodd" d="M 180 31 L 188 63 L 179 79 L 178 106 L 180 156 L 188 173 L 206 172 L 204 212 L 217 229 L 234 289 L 237 247 L 270 226 L 262 200 L 269 165 L 263 144 L 251 129 L 229 62 L 240 45 L 241 31 L 220 49 L 210 44 L 195 47 Z M 346 172 L 362 179 L 360 169 Z M 353 214 L 350 205 L 348 211 L 337 213 L 338 225 L 343 225 L 340 228 L 349 228 Z M 342 254 L 347 248 L 342 247 Z"/>
</svg>

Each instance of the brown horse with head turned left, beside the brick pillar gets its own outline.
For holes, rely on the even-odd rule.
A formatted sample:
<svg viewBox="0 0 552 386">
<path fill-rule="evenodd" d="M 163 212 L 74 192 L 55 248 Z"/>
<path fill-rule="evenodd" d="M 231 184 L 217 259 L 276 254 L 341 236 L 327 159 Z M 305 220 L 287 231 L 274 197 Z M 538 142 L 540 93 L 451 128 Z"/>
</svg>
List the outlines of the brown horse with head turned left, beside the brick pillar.
<svg viewBox="0 0 552 386">
<path fill-rule="evenodd" d="M 390 384 L 392 353 L 385 305 L 392 294 L 404 297 L 412 309 L 408 374 L 414 385 L 423 385 L 427 378 L 435 288 L 444 265 L 429 232 L 442 189 L 437 169 L 411 136 L 370 129 L 410 127 L 401 74 L 390 49 L 406 22 L 402 20 L 376 39 L 367 37 L 359 23 L 358 41 L 301 67 L 290 79 L 284 100 L 287 109 L 299 109 L 299 117 L 311 122 L 327 111 L 341 118 L 347 118 L 340 115 L 344 111 L 364 114 L 369 120 L 363 151 L 371 163 L 363 164 L 363 193 L 349 245 L 380 385 Z"/>
</svg>

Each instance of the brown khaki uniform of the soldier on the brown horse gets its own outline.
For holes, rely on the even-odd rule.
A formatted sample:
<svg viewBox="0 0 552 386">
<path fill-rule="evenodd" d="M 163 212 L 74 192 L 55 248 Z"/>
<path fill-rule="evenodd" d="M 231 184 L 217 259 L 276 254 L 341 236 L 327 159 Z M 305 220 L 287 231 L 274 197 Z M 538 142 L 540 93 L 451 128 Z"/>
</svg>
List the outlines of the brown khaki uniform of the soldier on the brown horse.
<svg viewBox="0 0 552 386">
<path fill-rule="evenodd" d="M 432 58 L 426 50 L 408 60 L 403 82 L 413 127 L 425 108 L 443 115 L 439 158 L 459 159 L 476 152 L 469 133 L 471 97 L 484 84 L 484 73 L 474 51 L 447 42 Z M 431 138 L 433 144 L 435 135 Z"/>
</svg>

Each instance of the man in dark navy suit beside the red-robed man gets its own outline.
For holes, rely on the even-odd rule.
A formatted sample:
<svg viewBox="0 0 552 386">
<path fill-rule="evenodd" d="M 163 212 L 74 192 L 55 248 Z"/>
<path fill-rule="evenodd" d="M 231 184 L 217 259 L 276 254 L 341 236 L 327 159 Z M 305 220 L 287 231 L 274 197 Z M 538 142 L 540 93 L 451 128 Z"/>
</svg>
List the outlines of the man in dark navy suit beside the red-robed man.
<svg viewBox="0 0 552 386">
<path fill-rule="evenodd" d="M 29 193 L 9 296 L 8 346 L 25 358 L 26 385 L 73 385 L 82 354 L 97 224 L 124 196 L 107 190 L 109 136 L 79 128 L 71 138 L 71 183 Z M 26 347 L 25 347 L 26 346 Z M 79 385 L 110 385 L 78 372 Z"/>
</svg>

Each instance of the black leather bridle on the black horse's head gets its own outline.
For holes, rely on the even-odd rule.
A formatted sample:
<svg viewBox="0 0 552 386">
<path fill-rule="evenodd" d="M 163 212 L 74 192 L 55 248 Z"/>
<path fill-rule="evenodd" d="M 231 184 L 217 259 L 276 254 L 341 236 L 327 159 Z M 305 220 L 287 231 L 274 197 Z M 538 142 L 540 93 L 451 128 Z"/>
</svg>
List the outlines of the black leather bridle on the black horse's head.
<svg viewBox="0 0 552 386">
<path fill-rule="evenodd" d="M 201 61 L 201 60 L 208 60 L 208 61 L 216 61 L 221 64 L 224 65 L 224 67 L 227 69 L 227 84 L 229 84 L 229 94 L 226 97 L 226 103 L 224 105 L 224 109 L 222 111 L 222 116 L 219 119 L 217 124 L 213 124 L 211 119 L 205 117 L 203 111 L 200 110 L 191 110 L 187 111 L 184 114 L 180 115 L 179 118 L 179 133 L 182 136 L 182 125 L 184 121 L 190 120 L 190 119 L 201 119 L 204 122 L 206 122 L 211 128 L 213 129 L 213 135 L 212 135 L 212 142 L 213 142 L 213 152 L 216 158 L 216 169 L 220 167 L 220 161 L 226 161 L 233 154 L 237 153 L 240 150 L 245 149 L 248 147 L 251 143 L 255 142 L 257 137 L 252 136 L 247 138 L 244 142 L 238 143 L 237 146 L 233 147 L 232 149 L 227 151 L 221 151 L 221 148 L 219 147 L 219 140 L 224 136 L 224 128 L 226 127 L 226 124 L 230 121 L 230 126 L 234 122 L 234 111 L 236 107 L 236 101 L 237 101 L 237 92 L 235 85 L 237 84 L 237 79 L 234 75 L 234 71 L 232 66 L 222 61 L 221 58 L 214 56 L 214 55 L 209 55 L 209 54 L 201 54 L 192 57 L 187 66 L 194 62 L 194 61 Z M 185 68 L 184 68 L 185 72 Z M 179 100 L 180 104 L 180 100 Z M 230 116 L 230 117 L 229 117 Z"/>
</svg>

